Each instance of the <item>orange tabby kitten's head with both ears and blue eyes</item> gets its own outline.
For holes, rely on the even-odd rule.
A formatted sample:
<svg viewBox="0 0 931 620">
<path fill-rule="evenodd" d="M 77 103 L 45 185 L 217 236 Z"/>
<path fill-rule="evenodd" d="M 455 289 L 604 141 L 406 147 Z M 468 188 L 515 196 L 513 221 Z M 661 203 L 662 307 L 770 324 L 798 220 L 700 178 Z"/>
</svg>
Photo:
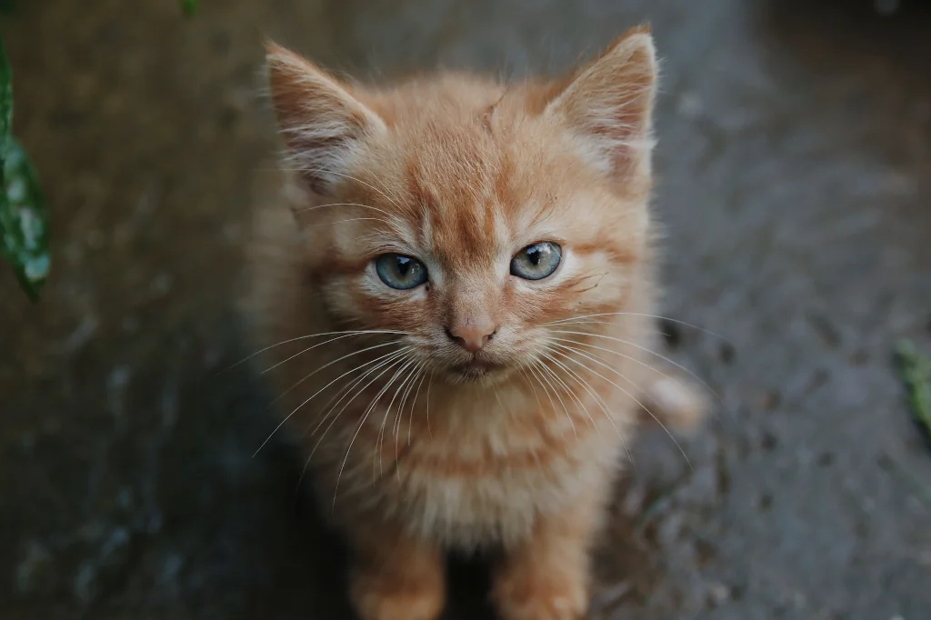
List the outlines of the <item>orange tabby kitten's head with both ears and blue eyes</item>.
<svg viewBox="0 0 931 620">
<path fill-rule="evenodd" d="M 308 286 L 334 322 L 404 332 L 435 376 L 493 380 L 558 356 L 553 339 L 573 318 L 637 309 L 649 261 L 648 32 L 539 84 L 445 74 L 364 88 L 275 45 L 268 63 L 307 190 L 297 222 Z"/>
</svg>

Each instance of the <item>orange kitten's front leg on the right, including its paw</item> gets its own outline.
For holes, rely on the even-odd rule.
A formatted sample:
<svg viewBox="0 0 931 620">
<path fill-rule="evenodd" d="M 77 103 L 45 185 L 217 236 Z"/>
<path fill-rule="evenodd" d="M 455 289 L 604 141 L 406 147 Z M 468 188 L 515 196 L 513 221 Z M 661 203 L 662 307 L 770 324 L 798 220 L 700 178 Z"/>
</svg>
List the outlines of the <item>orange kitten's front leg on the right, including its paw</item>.
<svg viewBox="0 0 931 620">
<path fill-rule="evenodd" d="M 504 620 L 579 620 L 588 609 L 588 546 L 597 502 L 541 516 L 524 543 L 507 550 L 492 596 Z"/>
</svg>

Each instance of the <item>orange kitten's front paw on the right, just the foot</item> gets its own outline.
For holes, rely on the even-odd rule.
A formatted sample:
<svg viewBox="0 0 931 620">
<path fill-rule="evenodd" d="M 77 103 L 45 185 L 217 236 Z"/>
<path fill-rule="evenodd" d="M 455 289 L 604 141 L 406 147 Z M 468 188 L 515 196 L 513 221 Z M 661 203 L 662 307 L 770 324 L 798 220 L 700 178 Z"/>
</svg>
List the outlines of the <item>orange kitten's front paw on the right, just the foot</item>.
<svg viewBox="0 0 931 620">
<path fill-rule="evenodd" d="M 587 580 L 564 567 L 506 567 L 492 596 L 504 620 L 581 620 L 588 610 Z"/>
</svg>

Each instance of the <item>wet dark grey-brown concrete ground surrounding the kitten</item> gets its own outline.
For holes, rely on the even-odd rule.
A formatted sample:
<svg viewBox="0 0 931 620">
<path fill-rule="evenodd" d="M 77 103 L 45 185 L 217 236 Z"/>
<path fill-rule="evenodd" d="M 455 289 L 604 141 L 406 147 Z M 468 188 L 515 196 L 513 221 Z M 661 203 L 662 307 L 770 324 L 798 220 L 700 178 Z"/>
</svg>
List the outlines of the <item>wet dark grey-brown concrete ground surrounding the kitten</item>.
<svg viewBox="0 0 931 620">
<path fill-rule="evenodd" d="M 235 313 L 274 191 L 272 35 L 390 77 L 552 72 L 641 20 L 665 57 L 656 205 L 677 360 L 722 401 L 647 433 L 599 618 L 931 617 L 931 457 L 892 344 L 931 350 L 931 14 L 867 0 L 20 2 L 16 131 L 54 226 L 33 306 L 0 270 L 0 617 L 347 617 Z M 883 3 L 880 3 L 883 4 Z M 895 4 L 895 3 L 893 3 Z M 669 326 L 666 326 L 669 328 Z M 480 573 L 479 573 L 480 574 Z M 488 617 L 470 570 L 452 616 Z"/>
</svg>

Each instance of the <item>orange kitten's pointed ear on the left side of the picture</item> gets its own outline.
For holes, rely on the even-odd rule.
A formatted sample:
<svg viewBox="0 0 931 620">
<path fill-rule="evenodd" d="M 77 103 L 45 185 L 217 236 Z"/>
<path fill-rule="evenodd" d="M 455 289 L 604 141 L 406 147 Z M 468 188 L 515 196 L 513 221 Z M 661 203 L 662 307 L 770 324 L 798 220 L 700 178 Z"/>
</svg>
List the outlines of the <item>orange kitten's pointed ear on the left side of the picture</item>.
<svg viewBox="0 0 931 620">
<path fill-rule="evenodd" d="M 265 61 L 290 160 L 313 192 L 326 195 L 364 143 L 386 130 L 385 121 L 350 87 L 289 49 L 270 42 Z"/>
</svg>

